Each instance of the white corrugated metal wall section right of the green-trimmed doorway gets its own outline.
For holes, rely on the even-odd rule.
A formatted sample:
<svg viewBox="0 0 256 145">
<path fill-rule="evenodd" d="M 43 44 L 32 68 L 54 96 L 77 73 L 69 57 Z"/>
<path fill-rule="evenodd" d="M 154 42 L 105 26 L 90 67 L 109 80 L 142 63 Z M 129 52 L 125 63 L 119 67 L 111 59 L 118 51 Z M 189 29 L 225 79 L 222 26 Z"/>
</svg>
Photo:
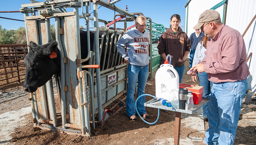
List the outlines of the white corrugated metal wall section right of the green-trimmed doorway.
<svg viewBox="0 0 256 145">
<path fill-rule="evenodd" d="M 226 24 L 241 34 L 245 31 L 250 21 L 256 14 L 256 0 L 232 0 L 227 4 L 227 20 Z M 250 52 L 253 53 L 250 60 L 247 62 L 250 70 L 250 76 L 248 77 L 248 89 L 254 90 L 256 88 L 256 30 L 255 20 L 244 35 L 243 39 L 246 44 L 247 56 Z M 254 33 L 253 33 L 254 31 Z M 250 43 L 251 41 L 251 43 Z"/>
</svg>

